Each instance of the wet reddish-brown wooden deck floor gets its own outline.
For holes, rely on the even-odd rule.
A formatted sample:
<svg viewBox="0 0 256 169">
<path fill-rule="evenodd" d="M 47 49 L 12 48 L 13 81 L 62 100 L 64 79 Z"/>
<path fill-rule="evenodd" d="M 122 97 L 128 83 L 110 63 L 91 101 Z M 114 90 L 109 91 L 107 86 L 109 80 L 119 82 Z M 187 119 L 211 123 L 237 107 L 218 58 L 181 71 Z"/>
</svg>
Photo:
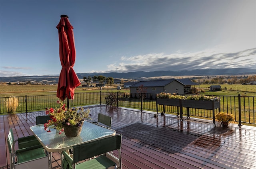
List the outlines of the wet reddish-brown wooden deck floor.
<svg viewBox="0 0 256 169">
<path fill-rule="evenodd" d="M 90 106 L 96 121 L 99 112 L 112 116 L 112 129 L 123 134 L 123 169 L 253 169 L 256 168 L 256 127 L 166 115 L 154 118 L 154 112 L 127 108 Z M 30 126 L 44 112 L 0 116 L 0 169 L 10 165 L 6 138 L 10 128 L 14 137 L 32 135 Z M 114 152 L 115 153 L 115 152 Z M 56 169 L 60 154 L 53 153 Z"/>
</svg>

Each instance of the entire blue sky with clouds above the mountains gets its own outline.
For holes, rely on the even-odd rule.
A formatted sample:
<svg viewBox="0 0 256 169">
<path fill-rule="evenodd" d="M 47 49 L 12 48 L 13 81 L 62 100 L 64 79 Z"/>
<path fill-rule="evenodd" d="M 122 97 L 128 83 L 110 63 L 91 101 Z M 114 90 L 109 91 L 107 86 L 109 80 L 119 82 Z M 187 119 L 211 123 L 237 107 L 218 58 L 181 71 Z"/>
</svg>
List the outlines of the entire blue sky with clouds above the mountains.
<svg viewBox="0 0 256 169">
<path fill-rule="evenodd" d="M 58 75 L 57 24 L 76 73 L 256 69 L 255 0 L 0 0 L 0 76 Z"/>
</svg>

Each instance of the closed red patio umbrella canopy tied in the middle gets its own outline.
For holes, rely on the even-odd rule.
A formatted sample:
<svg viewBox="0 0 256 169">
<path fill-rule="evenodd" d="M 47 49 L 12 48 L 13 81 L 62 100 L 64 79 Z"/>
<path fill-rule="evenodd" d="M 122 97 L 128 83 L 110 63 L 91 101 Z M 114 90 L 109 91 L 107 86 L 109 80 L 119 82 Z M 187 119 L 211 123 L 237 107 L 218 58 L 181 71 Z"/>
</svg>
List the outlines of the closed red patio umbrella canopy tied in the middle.
<svg viewBox="0 0 256 169">
<path fill-rule="evenodd" d="M 66 98 L 74 99 L 74 90 L 81 83 L 73 69 L 76 60 L 76 48 L 74 41 L 73 26 L 68 20 L 68 16 L 60 16 L 60 23 L 56 26 L 59 32 L 60 41 L 60 71 L 57 97 L 60 100 Z"/>
</svg>

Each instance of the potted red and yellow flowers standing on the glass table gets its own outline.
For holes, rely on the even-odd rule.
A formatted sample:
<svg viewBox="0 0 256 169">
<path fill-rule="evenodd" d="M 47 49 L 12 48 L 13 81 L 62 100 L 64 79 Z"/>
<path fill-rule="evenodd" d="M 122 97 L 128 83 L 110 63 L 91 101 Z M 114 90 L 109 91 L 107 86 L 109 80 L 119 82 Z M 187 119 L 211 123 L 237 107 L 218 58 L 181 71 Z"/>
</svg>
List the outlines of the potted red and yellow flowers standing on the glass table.
<svg viewBox="0 0 256 169">
<path fill-rule="evenodd" d="M 50 128 L 55 128 L 60 131 L 59 134 L 65 131 L 67 137 L 78 136 L 84 120 L 91 119 L 90 110 L 84 110 L 82 107 L 66 108 L 66 105 L 60 100 L 57 103 L 59 106 L 56 108 L 46 108 L 45 113 L 50 116 L 51 120 L 44 124 L 44 130 L 51 132 Z"/>
</svg>

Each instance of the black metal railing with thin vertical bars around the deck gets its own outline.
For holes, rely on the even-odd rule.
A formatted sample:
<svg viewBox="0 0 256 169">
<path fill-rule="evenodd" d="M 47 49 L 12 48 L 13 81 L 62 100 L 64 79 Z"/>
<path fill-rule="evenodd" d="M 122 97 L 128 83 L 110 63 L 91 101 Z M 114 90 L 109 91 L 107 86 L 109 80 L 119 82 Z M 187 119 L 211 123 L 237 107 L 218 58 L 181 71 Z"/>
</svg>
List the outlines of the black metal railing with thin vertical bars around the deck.
<svg viewBox="0 0 256 169">
<path fill-rule="evenodd" d="M 86 106 L 93 104 L 106 104 L 106 96 L 110 92 L 76 93 L 74 100 L 69 100 L 70 107 Z M 156 105 L 156 94 L 148 93 L 123 93 L 116 92 L 116 106 L 135 108 L 140 111 L 163 111 L 162 105 Z M 256 96 L 218 96 L 220 97 L 220 111 L 228 112 L 235 116 L 235 121 L 240 123 L 256 124 Z M 17 101 L 18 100 L 18 101 Z M 39 96 L 17 96 L 0 98 L 0 114 L 10 112 L 34 112 L 45 110 L 46 107 L 56 107 L 58 98 L 56 94 Z M 18 105 L 17 105 L 18 102 Z M 67 104 L 66 100 L 64 101 Z M 12 105 L 17 105 L 12 110 Z M 212 110 L 190 108 L 190 116 L 213 118 Z M 165 106 L 165 112 L 177 114 L 176 106 Z M 183 110 L 186 116 L 186 110 Z"/>
</svg>

